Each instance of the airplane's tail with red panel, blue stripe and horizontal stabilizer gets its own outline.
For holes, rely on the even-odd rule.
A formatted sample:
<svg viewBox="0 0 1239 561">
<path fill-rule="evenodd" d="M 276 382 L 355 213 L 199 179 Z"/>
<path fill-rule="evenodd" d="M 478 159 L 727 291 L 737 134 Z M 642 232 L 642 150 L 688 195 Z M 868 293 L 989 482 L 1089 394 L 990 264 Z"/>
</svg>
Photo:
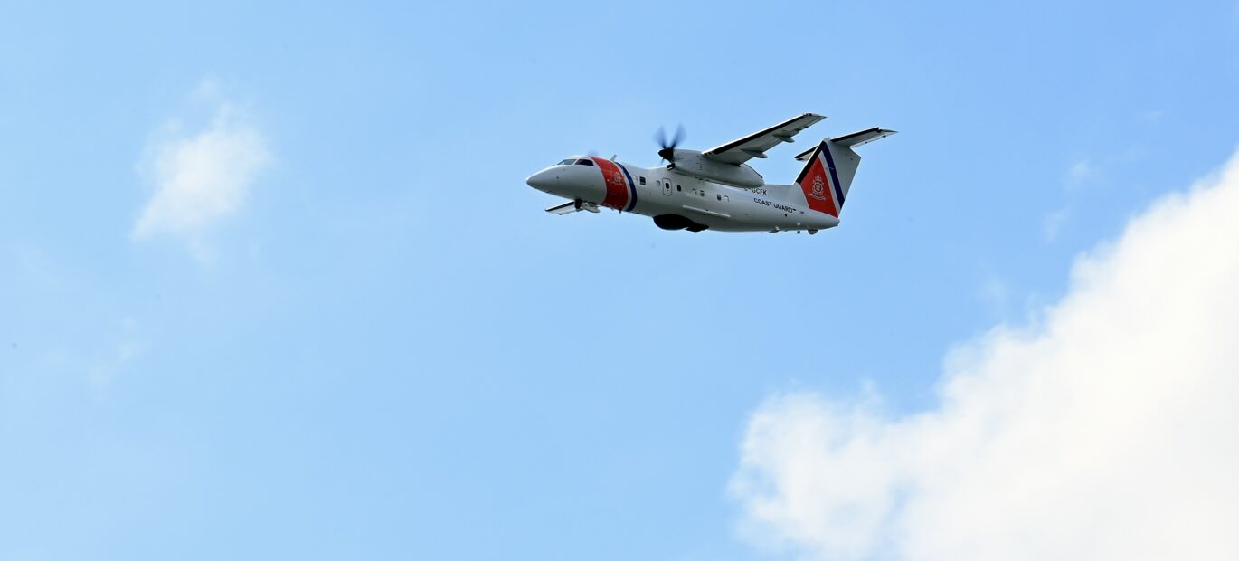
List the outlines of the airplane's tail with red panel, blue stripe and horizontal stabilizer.
<svg viewBox="0 0 1239 561">
<path fill-rule="evenodd" d="M 869 144 L 893 134 L 893 130 L 872 128 L 838 139 L 823 140 L 813 150 L 797 155 L 797 160 L 807 160 L 795 182 L 804 191 L 804 199 L 808 201 L 809 208 L 839 218 L 839 212 L 844 208 L 844 199 L 847 198 L 847 188 L 851 187 L 856 167 L 860 166 L 860 155 L 852 151 L 852 146 Z"/>
</svg>

